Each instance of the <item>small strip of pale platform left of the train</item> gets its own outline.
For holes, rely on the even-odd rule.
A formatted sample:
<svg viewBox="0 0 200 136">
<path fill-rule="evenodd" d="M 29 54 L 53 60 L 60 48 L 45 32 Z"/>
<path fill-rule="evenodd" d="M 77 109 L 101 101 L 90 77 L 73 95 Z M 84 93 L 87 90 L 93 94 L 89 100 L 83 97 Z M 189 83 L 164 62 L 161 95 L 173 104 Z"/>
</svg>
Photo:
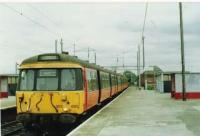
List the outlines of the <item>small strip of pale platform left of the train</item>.
<svg viewBox="0 0 200 136">
<path fill-rule="evenodd" d="M 8 98 L 1 98 L 0 99 L 0 108 L 1 110 L 15 107 L 16 106 L 16 100 L 15 96 L 9 96 Z"/>
</svg>

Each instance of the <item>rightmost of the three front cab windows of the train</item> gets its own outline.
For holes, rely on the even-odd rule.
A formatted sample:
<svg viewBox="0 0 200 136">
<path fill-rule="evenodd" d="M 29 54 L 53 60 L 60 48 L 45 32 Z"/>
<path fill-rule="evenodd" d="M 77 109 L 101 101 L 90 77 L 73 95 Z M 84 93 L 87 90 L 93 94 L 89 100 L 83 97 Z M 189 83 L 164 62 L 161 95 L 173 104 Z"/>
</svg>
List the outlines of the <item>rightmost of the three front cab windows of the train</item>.
<svg viewBox="0 0 200 136">
<path fill-rule="evenodd" d="M 63 69 L 61 71 L 62 90 L 83 89 L 83 79 L 81 69 Z"/>
</svg>

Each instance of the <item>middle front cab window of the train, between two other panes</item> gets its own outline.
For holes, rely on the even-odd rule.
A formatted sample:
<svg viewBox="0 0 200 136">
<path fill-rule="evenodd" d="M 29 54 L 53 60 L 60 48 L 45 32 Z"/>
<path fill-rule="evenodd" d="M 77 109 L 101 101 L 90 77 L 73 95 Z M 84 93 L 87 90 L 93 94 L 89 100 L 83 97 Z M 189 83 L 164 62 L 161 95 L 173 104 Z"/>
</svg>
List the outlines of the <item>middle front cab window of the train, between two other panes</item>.
<svg viewBox="0 0 200 136">
<path fill-rule="evenodd" d="M 41 69 L 37 73 L 37 90 L 58 90 L 58 71 Z"/>
</svg>

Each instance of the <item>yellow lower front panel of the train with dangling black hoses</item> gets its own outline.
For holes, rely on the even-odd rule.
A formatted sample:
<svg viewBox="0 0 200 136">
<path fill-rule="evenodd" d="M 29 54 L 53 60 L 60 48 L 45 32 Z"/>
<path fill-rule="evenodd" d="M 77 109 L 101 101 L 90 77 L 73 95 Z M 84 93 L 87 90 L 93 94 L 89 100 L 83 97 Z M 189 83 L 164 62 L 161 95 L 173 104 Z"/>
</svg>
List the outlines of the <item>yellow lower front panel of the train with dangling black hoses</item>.
<svg viewBox="0 0 200 136">
<path fill-rule="evenodd" d="M 17 91 L 17 113 L 75 113 L 81 114 L 84 107 L 84 92 L 81 91 Z"/>
</svg>

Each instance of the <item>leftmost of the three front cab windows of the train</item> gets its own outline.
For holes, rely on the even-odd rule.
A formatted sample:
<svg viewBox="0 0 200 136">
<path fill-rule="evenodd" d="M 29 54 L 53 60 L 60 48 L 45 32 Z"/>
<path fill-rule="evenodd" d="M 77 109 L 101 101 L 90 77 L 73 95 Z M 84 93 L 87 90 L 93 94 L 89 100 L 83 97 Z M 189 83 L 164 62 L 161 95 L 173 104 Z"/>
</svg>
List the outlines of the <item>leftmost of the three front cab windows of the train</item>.
<svg viewBox="0 0 200 136">
<path fill-rule="evenodd" d="M 34 71 L 22 70 L 20 74 L 20 90 L 33 90 L 34 88 Z"/>
</svg>

